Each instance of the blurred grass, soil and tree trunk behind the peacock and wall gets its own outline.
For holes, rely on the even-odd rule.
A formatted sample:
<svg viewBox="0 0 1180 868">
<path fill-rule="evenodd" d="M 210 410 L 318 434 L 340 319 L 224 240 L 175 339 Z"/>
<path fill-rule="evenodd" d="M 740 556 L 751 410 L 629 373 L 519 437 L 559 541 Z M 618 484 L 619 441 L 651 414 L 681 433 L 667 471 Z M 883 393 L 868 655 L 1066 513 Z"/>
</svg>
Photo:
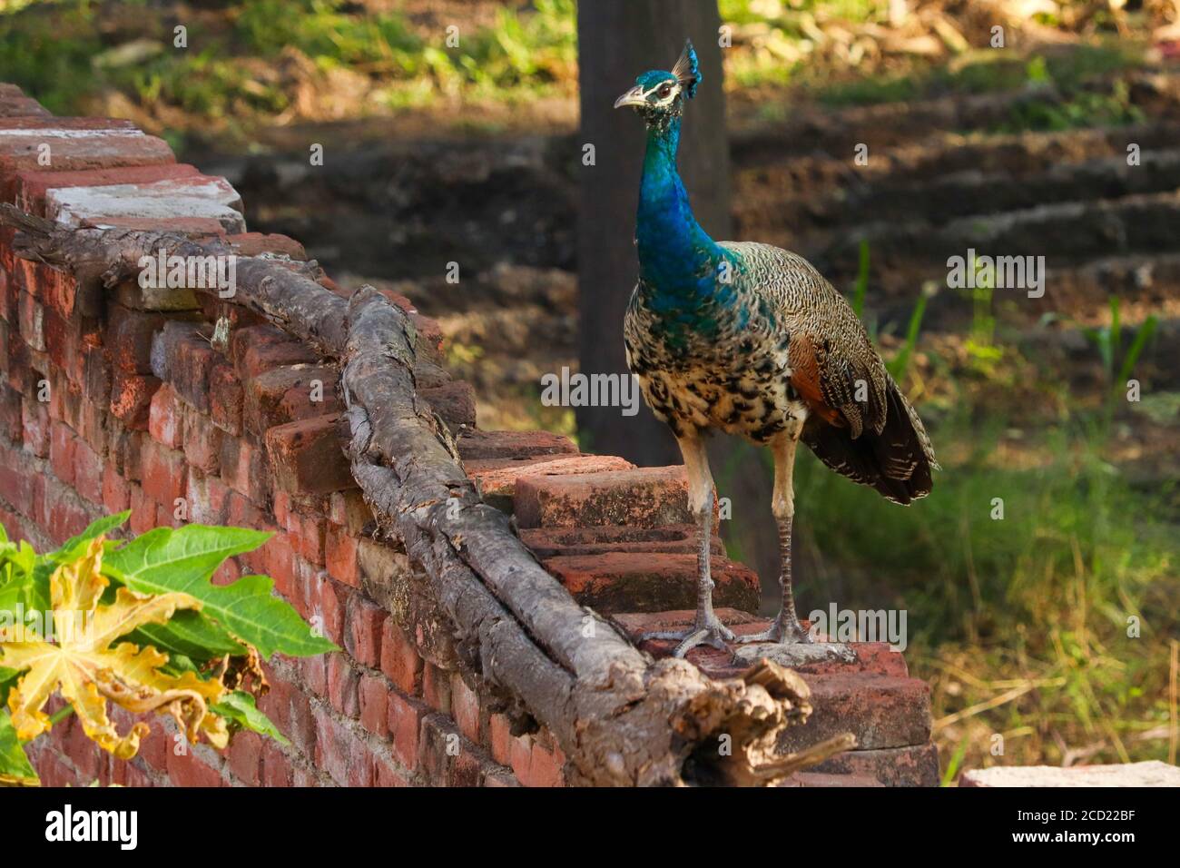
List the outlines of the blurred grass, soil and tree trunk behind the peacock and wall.
<svg viewBox="0 0 1180 868">
<path fill-rule="evenodd" d="M 543 406 L 539 381 L 622 370 L 642 130 L 610 104 L 691 35 L 699 218 L 847 293 L 944 468 L 903 509 L 801 452 L 801 611 L 906 609 L 948 781 L 1174 763 L 1180 0 L 582 7 L 0 0 L 0 80 L 135 120 L 225 175 L 251 229 L 412 298 L 481 428 L 666 464 L 645 409 Z M 971 247 L 1045 256 L 1044 296 L 948 288 Z M 730 554 L 775 587 L 767 457 L 719 443 L 714 466 Z"/>
</svg>

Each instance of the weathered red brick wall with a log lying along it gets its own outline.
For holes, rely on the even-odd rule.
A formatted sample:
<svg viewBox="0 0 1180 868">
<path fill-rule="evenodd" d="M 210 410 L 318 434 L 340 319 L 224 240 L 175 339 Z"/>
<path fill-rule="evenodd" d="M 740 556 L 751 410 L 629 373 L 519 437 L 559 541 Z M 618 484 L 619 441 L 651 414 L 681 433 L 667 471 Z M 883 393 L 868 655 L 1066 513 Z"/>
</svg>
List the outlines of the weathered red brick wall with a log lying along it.
<svg viewBox="0 0 1180 868">
<path fill-rule="evenodd" d="M 45 146 L 48 146 L 46 150 Z M 45 156 L 48 155 L 46 164 Z M 294 240 L 245 231 L 224 178 L 177 164 L 166 144 L 123 120 L 53 118 L 0 85 L 0 196 L 70 226 L 221 236 L 242 255 L 289 260 L 347 295 Z M 518 730 L 466 672 L 452 627 L 422 593 L 420 567 L 376 542 L 340 449 L 337 371 L 240 308 L 188 291 L 79 285 L 18 260 L 0 230 L 0 522 L 52 547 L 99 515 L 131 509 L 131 530 L 185 521 L 274 533 L 227 562 L 217 581 L 270 575 L 276 589 L 342 651 L 267 666 L 261 707 L 289 746 L 240 733 L 224 752 L 182 750 L 153 718 L 133 761 L 113 761 L 74 718 L 35 743 L 47 784 L 560 785 L 552 737 Z M 303 265 L 300 265 L 300 263 Z M 400 296 L 391 299 L 412 312 Z M 218 316 L 225 345 L 210 340 Z M 582 603 L 637 634 L 687 621 L 695 600 L 694 529 L 682 468 L 637 469 L 578 453 L 545 432 L 474 429 L 470 386 L 441 366 L 437 324 L 412 313 L 427 354 L 419 394 L 455 431 L 485 500 L 516 515 L 524 542 Z M 317 399 L 320 398 L 320 399 Z M 759 629 L 759 582 L 714 541 L 716 601 Z M 648 647 L 668 653 L 667 645 Z M 733 674 L 720 652 L 690 659 Z M 817 712 L 784 744 L 843 730 L 860 749 L 796 784 L 929 784 L 929 694 L 884 646 L 801 668 Z M 119 714 L 122 712 L 118 712 Z M 126 714 L 116 717 L 120 730 Z"/>
</svg>

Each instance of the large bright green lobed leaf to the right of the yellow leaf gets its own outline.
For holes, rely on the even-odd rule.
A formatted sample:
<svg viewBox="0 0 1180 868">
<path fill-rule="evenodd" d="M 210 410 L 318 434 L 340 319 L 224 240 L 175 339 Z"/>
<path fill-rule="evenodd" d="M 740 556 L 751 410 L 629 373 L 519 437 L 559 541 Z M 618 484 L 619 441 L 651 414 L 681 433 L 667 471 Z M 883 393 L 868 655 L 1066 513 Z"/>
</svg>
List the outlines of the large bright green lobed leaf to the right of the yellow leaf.
<svg viewBox="0 0 1180 868">
<path fill-rule="evenodd" d="M 257 530 L 204 524 L 156 528 L 107 555 L 103 570 L 112 570 L 143 594 L 179 590 L 195 596 L 204 615 L 263 657 L 276 651 L 294 657 L 335 651 L 335 645 L 313 635 L 299 613 L 270 593 L 274 582 L 267 576 L 243 576 L 224 587 L 209 581 L 227 557 L 257 548 L 269 537 Z"/>
</svg>

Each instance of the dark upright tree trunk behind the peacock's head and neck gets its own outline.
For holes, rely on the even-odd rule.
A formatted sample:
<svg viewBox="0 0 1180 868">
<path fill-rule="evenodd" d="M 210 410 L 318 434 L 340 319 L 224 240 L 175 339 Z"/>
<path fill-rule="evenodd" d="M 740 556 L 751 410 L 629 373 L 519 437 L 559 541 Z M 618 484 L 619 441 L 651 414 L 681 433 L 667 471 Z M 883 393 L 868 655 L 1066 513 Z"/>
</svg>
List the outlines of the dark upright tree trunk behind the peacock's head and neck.
<svg viewBox="0 0 1180 868">
<path fill-rule="evenodd" d="M 584 373 L 627 373 L 623 313 L 638 275 L 635 211 L 643 162 L 643 123 L 616 111 L 615 99 L 651 68 L 670 70 L 684 39 L 701 60 L 703 80 L 684 110 L 680 171 L 697 221 L 713 237 L 729 237 L 729 148 L 721 90 L 721 19 L 714 2 L 595 0 L 578 4 L 579 145 L 595 146 L 595 165 L 579 165 L 578 359 Z M 667 425 L 643 409 L 579 407 L 582 446 L 636 464 L 681 462 Z"/>
</svg>

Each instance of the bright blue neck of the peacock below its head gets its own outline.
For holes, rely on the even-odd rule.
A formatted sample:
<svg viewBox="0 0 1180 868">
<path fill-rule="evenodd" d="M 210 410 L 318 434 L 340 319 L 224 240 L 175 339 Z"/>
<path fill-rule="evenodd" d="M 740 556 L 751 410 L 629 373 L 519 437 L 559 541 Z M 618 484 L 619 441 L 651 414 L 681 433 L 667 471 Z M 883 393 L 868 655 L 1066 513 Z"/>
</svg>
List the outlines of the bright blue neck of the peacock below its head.
<svg viewBox="0 0 1180 868">
<path fill-rule="evenodd" d="M 713 295 L 717 263 L 725 256 L 693 216 L 676 172 L 678 144 L 678 117 L 648 129 L 635 229 L 640 278 L 669 304 Z"/>
</svg>

